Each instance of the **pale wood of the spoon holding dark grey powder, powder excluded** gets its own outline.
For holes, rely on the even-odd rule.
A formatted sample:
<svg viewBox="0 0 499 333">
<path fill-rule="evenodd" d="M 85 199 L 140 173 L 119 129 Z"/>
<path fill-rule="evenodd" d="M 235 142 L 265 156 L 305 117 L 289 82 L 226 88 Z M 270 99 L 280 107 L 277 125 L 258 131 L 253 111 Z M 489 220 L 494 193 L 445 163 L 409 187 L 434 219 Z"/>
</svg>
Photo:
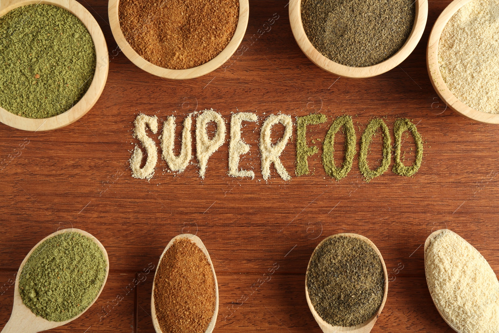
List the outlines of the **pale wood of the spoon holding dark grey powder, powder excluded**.
<svg viewBox="0 0 499 333">
<path fill-rule="evenodd" d="M 307 278 L 306 277 L 308 275 L 308 269 L 310 268 L 310 262 L 312 261 L 312 258 L 315 254 L 315 251 L 317 251 L 317 249 L 327 239 L 332 238 L 332 237 L 341 237 L 341 236 L 358 238 L 358 239 L 366 242 L 367 244 L 369 244 L 373 248 L 373 250 L 376 252 L 376 254 L 379 256 L 379 259 L 381 260 L 381 265 L 383 266 L 383 274 L 384 274 L 384 278 L 385 278 L 385 293 L 383 295 L 383 302 L 381 302 L 381 305 L 379 306 L 378 311 L 374 314 L 374 316 L 372 316 L 366 322 L 359 324 L 357 326 L 352 326 L 352 327 L 332 326 L 331 324 L 324 321 L 319 316 L 319 314 L 315 311 L 315 309 L 312 305 L 312 302 L 310 302 L 310 298 L 308 296 L 308 287 L 307 287 Z M 371 242 L 371 240 L 369 240 L 368 238 L 361 236 L 361 235 L 358 235 L 358 234 L 351 234 L 351 233 L 342 233 L 342 234 L 332 235 L 332 236 L 329 236 L 329 237 L 326 237 L 325 239 L 323 239 L 322 242 L 320 242 L 319 245 L 317 245 L 317 247 L 313 251 L 312 255 L 310 256 L 310 261 L 308 262 L 308 266 L 307 266 L 307 274 L 305 275 L 305 297 L 307 299 L 307 304 L 308 304 L 308 307 L 310 308 L 310 312 L 312 313 L 313 318 L 315 319 L 317 324 L 319 324 L 319 327 L 322 330 L 322 332 L 324 332 L 324 333 L 335 333 L 335 332 L 336 333 L 340 333 L 340 332 L 369 333 L 369 332 L 371 332 L 374 324 L 376 323 L 376 320 L 378 319 L 379 315 L 381 314 L 381 311 L 383 310 L 383 307 L 385 306 L 387 295 L 388 295 L 388 273 L 386 271 L 385 261 L 383 260 L 383 256 L 381 256 L 381 253 L 379 252 L 376 245 L 374 245 L 374 243 Z"/>
</svg>

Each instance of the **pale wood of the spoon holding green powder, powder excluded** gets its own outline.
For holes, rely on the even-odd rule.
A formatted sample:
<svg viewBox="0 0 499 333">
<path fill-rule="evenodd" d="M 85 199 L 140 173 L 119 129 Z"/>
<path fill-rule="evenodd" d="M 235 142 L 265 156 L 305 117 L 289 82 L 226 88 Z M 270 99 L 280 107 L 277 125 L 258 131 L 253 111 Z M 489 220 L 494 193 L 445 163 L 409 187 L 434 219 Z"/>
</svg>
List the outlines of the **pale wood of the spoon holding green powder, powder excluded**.
<svg viewBox="0 0 499 333">
<path fill-rule="evenodd" d="M 100 287 L 99 293 L 95 297 L 95 299 L 90 303 L 90 305 L 83 310 L 79 315 L 65 321 L 65 322 L 49 322 L 46 319 L 36 316 L 27 308 L 24 303 L 22 303 L 21 295 L 19 294 L 19 277 L 21 275 L 22 269 L 24 267 L 24 264 L 26 264 L 26 261 L 28 260 L 29 256 L 31 253 L 36 249 L 38 246 L 40 246 L 41 243 L 43 243 L 45 240 L 60 235 L 65 232 L 77 232 L 82 234 L 83 236 L 86 236 L 90 239 L 92 239 L 102 250 L 102 253 L 104 254 L 104 258 L 106 259 L 106 276 L 104 278 L 104 282 L 102 283 L 102 287 Z M 80 230 L 80 229 L 74 229 L 74 228 L 69 228 L 69 229 L 62 229 L 54 232 L 51 235 L 48 235 L 44 239 L 38 242 L 31 251 L 27 254 L 27 256 L 24 258 L 24 260 L 21 263 L 21 266 L 19 267 L 19 270 L 17 271 L 17 275 L 15 277 L 15 287 L 14 287 L 14 306 L 12 308 L 12 314 L 10 315 L 10 319 L 8 320 L 7 324 L 5 324 L 5 327 L 1 331 L 1 333 L 37 333 L 41 331 L 46 331 L 50 330 L 62 325 L 66 325 L 67 323 L 75 320 L 76 318 L 80 317 L 83 315 L 85 311 L 87 311 L 93 304 L 94 302 L 99 298 L 100 293 L 104 289 L 104 285 L 106 284 L 107 281 L 107 275 L 109 273 L 109 258 L 107 257 L 107 252 L 104 246 L 100 244 L 99 240 L 93 237 L 91 234 L 87 233 L 86 231 Z"/>
</svg>

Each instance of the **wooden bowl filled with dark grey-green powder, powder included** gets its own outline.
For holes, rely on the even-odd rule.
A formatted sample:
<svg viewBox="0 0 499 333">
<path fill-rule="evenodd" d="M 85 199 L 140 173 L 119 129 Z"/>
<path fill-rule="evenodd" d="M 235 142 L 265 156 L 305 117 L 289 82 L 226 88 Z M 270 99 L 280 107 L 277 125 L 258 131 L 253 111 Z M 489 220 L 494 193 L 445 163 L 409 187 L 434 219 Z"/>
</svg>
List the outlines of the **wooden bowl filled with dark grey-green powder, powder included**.
<svg viewBox="0 0 499 333">
<path fill-rule="evenodd" d="M 335 75 L 364 78 L 404 61 L 418 44 L 428 0 L 290 0 L 289 20 L 303 53 Z"/>
</svg>

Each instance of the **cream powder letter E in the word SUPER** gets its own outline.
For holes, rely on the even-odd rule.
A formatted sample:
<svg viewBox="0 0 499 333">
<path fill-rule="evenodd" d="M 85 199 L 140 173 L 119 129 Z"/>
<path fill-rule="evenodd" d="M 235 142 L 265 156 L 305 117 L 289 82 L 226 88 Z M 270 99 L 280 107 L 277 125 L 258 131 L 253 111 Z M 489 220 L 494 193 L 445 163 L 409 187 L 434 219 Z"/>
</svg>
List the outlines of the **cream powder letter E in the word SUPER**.
<svg viewBox="0 0 499 333">
<path fill-rule="evenodd" d="M 241 139 L 241 123 L 243 121 L 256 121 L 256 114 L 251 112 L 238 112 L 231 116 L 231 142 L 229 143 L 229 176 L 251 177 L 254 172 L 249 170 L 239 171 L 239 157 L 250 151 L 250 145 Z"/>
</svg>

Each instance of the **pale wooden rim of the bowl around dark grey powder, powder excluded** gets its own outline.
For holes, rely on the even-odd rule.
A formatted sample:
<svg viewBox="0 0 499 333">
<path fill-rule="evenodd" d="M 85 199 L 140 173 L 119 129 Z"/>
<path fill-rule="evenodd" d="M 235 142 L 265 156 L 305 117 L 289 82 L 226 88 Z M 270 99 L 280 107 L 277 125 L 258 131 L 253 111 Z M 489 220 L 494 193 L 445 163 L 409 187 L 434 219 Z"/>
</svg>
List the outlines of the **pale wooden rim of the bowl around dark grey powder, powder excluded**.
<svg viewBox="0 0 499 333">
<path fill-rule="evenodd" d="M 416 18 L 412 31 L 402 47 L 390 58 L 376 65 L 366 67 L 350 67 L 329 60 L 312 45 L 301 21 L 301 0 L 289 1 L 289 22 L 294 39 L 303 53 L 317 66 L 338 76 L 364 78 L 382 74 L 398 66 L 404 61 L 418 44 L 428 18 L 428 0 L 416 0 Z"/>
</svg>

